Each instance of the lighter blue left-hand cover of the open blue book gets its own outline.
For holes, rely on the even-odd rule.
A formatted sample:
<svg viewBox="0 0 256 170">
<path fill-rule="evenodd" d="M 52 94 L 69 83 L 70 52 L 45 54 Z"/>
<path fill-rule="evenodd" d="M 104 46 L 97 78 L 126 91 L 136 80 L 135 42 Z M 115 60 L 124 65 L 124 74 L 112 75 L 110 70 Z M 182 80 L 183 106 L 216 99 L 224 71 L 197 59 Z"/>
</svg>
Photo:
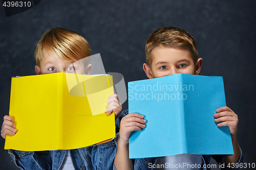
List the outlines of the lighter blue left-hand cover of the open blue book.
<svg viewBox="0 0 256 170">
<path fill-rule="evenodd" d="M 165 79 L 168 79 L 167 85 L 181 82 L 176 78 Z M 177 91 L 172 90 L 170 86 L 166 88 L 165 85 L 162 78 L 128 84 L 129 113 L 142 114 L 147 120 L 146 128 L 130 135 L 130 158 L 167 156 L 169 153 L 184 152 L 186 145 L 182 141 L 185 141 L 185 130 L 184 123 L 181 123 L 184 122 L 184 115 L 180 113 Z M 165 144 L 169 146 L 168 150 Z"/>
</svg>

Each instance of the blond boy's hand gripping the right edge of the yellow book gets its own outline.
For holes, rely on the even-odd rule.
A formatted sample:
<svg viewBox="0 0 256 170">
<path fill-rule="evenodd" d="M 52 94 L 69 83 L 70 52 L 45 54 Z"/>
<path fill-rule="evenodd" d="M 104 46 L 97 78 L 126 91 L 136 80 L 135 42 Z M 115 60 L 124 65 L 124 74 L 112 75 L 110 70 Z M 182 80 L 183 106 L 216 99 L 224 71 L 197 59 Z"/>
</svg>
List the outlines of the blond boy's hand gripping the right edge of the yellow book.
<svg viewBox="0 0 256 170">
<path fill-rule="evenodd" d="M 108 109 L 105 110 L 106 115 L 111 115 L 111 113 L 114 111 L 115 112 L 115 119 L 119 116 L 119 114 L 122 111 L 122 105 L 119 102 L 119 98 L 117 94 L 112 94 L 109 96 L 108 101 Z"/>
</svg>

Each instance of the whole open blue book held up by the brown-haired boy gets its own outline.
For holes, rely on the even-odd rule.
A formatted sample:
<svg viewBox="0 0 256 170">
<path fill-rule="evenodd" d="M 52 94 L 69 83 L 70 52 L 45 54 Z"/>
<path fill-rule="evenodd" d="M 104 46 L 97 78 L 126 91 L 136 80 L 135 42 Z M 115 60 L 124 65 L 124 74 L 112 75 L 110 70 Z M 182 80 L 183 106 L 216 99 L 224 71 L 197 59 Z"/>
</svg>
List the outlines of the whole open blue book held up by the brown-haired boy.
<svg viewBox="0 0 256 170">
<path fill-rule="evenodd" d="M 175 74 L 128 83 L 129 113 L 146 128 L 129 139 L 129 158 L 177 154 L 233 154 L 229 127 L 214 114 L 226 106 L 222 77 Z"/>
</svg>

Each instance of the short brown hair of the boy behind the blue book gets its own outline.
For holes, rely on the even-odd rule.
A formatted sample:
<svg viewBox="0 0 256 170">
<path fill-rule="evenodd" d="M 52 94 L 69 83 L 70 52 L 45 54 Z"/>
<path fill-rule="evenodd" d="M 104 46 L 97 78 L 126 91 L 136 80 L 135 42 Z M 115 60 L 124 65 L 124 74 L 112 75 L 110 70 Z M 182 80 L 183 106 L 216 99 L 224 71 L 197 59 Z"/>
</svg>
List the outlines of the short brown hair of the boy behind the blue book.
<svg viewBox="0 0 256 170">
<path fill-rule="evenodd" d="M 185 30 L 176 27 L 162 27 L 151 34 L 146 41 L 146 64 L 151 67 L 152 51 L 155 47 L 166 45 L 170 47 L 188 47 L 191 57 L 196 64 L 198 60 L 197 43 L 193 36 Z"/>
</svg>

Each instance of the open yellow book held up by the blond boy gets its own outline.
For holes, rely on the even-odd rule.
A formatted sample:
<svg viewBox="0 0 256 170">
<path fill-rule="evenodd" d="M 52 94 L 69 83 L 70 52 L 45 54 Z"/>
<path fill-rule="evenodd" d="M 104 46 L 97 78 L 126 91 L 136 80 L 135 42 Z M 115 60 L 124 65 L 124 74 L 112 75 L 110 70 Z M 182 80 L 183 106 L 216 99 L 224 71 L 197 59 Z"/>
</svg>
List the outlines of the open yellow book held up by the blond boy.
<svg viewBox="0 0 256 170">
<path fill-rule="evenodd" d="M 77 149 L 115 137 L 115 115 L 106 116 L 112 76 L 54 73 L 12 78 L 10 111 L 17 133 L 5 149 Z"/>
</svg>

